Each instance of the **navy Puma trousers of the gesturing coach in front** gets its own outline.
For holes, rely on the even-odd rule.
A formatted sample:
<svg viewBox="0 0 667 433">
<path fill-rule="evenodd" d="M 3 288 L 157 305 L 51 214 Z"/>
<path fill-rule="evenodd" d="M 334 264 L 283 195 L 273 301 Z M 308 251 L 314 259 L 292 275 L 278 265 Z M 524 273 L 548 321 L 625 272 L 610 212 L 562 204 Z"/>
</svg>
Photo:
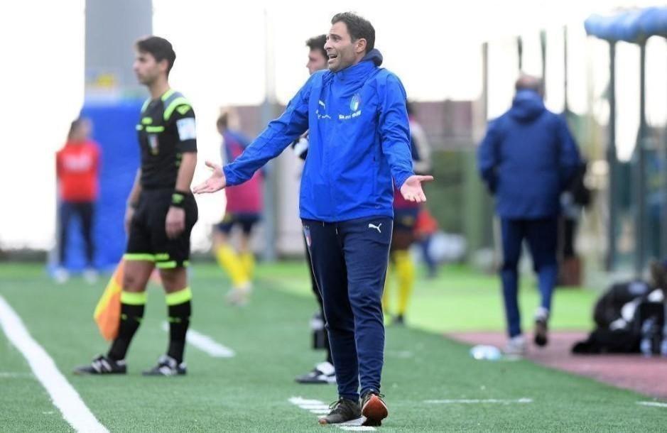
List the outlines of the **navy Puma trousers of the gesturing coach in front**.
<svg viewBox="0 0 667 433">
<path fill-rule="evenodd" d="M 389 261 L 388 217 L 335 223 L 303 220 L 322 295 L 338 394 L 379 392 L 384 363 L 382 291 Z"/>
</svg>

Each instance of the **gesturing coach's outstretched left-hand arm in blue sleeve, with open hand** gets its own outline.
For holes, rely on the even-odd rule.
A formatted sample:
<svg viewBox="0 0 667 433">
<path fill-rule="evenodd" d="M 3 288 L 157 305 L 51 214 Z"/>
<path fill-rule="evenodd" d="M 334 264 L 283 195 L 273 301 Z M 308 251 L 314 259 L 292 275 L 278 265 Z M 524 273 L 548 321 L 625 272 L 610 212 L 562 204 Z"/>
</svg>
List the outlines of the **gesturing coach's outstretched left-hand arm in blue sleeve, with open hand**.
<svg viewBox="0 0 667 433">
<path fill-rule="evenodd" d="M 269 160 L 280 155 L 295 138 L 307 131 L 308 98 L 312 80 L 311 76 L 292 98 L 285 112 L 278 119 L 271 121 L 233 163 L 222 168 L 219 164 L 206 161 L 207 167 L 213 170 L 211 177 L 192 188 L 192 192 L 195 194 L 216 192 L 224 187 L 246 182 Z"/>
</svg>

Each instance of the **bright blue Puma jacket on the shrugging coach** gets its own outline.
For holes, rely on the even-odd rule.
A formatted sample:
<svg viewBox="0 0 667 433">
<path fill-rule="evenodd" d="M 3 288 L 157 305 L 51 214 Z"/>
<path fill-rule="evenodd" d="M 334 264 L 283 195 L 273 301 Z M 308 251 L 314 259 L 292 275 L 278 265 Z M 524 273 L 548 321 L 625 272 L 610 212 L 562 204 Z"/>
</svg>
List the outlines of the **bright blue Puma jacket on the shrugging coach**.
<svg viewBox="0 0 667 433">
<path fill-rule="evenodd" d="M 414 173 L 406 92 L 381 62 L 379 51 L 371 50 L 344 70 L 311 75 L 285 112 L 224 166 L 227 185 L 248 180 L 309 130 L 300 217 L 327 222 L 393 217 L 393 184 L 401 187 Z"/>
</svg>

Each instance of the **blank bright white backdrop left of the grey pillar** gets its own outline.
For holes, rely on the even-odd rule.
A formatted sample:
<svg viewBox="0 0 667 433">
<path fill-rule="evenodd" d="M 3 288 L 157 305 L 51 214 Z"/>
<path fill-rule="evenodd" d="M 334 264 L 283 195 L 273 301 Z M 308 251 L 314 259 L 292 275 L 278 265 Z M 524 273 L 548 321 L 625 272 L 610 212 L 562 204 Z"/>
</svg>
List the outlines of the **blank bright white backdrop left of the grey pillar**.
<svg viewBox="0 0 667 433">
<path fill-rule="evenodd" d="M 84 1 L 0 3 L 0 247 L 55 239 L 55 151 L 83 104 Z"/>
</svg>

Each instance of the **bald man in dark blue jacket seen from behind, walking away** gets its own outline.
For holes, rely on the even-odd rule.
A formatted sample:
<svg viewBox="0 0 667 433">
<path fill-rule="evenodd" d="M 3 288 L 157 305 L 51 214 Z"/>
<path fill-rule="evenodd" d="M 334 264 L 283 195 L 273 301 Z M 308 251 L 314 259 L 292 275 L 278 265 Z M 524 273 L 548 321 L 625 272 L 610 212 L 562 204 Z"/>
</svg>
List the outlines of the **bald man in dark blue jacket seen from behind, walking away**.
<svg viewBox="0 0 667 433">
<path fill-rule="evenodd" d="M 541 80 L 524 75 L 505 114 L 489 122 L 479 146 L 479 171 L 496 196 L 501 220 L 503 263 L 501 280 L 508 322 L 508 353 L 523 353 L 517 303 L 517 265 L 526 239 L 538 274 L 541 304 L 535 314 L 535 344 L 547 344 L 551 295 L 558 265 L 559 197 L 579 164 L 579 152 L 565 120 L 542 101 Z"/>
</svg>

